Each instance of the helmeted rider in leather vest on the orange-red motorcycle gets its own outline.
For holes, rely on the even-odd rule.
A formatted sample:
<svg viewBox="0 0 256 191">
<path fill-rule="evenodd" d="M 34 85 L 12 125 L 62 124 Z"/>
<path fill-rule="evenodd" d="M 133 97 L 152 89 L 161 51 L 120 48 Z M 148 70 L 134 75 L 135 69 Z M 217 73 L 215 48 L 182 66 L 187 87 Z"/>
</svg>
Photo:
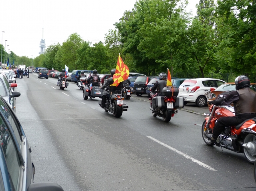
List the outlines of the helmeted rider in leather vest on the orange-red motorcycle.
<svg viewBox="0 0 256 191">
<path fill-rule="evenodd" d="M 256 92 L 250 89 L 250 79 L 244 75 L 238 76 L 235 79 L 235 84 L 236 91 L 222 93 L 215 100 L 209 102 L 214 105 L 234 103 L 236 116 L 219 118 L 213 129 L 211 142 L 217 146 L 219 144 L 216 140 L 225 127 L 236 126 L 247 119 L 256 117 Z"/>
</svg>

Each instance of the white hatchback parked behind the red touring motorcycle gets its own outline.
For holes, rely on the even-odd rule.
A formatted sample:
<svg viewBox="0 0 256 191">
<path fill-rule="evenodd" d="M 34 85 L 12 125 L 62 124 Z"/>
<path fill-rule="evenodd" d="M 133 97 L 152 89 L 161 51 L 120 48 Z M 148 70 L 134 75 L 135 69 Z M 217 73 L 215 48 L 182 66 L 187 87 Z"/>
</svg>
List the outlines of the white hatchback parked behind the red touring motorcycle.
<svg viewBox="0 0 256 191">
<path fill-rule="evenodd" d="M 178 96 L 184 98 L 185 104 L 194 102 L 198 107 L 203 107 L 209 99 L 206 93 L 224 83 L 226 82 L 213 78 L 186 79 L 179 87 Z"/>
</svg>

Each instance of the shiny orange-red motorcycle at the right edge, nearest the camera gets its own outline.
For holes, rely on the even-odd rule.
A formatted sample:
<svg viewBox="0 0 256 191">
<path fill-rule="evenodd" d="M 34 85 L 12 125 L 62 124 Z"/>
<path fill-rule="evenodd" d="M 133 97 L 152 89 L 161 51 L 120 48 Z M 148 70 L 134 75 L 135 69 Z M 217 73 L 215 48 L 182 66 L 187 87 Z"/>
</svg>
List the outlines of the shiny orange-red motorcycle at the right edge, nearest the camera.
<svg viewBox="0 0 256 191">
<path fill-rule="evenodd" d="M 212 138 L 213 129 L 217 120 L 221 117 L 235 116 L 234 108 L 228 106 L 211 105 L 210 114 L 207 116 L 202 125 L 202 137 L 208 146 L 214 146 L 210 140 Z M 244 153 L 246 159 L 254 163 L 256 161 L 256 118 L 244 120 L 236 126 L 226 127 L 225 130 L 217 138 L 216 142 L 220 147 L 234 151 L 236 153 Z"/>
</svg>

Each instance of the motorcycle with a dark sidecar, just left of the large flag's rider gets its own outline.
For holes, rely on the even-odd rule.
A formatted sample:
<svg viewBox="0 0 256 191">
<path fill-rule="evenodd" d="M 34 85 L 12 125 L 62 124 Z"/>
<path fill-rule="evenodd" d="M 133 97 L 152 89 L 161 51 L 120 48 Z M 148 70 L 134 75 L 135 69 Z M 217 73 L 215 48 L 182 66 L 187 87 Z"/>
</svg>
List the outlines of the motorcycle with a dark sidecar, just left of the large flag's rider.
<svg viewBox="0 0 256 191">
<path fill-rule="evenodd" d="M 101 85 L 102 84 L 100 82 L 98 83 L 98 86 L 92 86 L 92 83 L 90 84 L 90 86 L 89 86 L 89 84 L 86 84 L 86 86 L 83 89 L 83 98 L 84 98 L 84 100 L 88 100 L 88 97 L 90 97 L 90 98 L 95 98 L 95 97 L 102 98 L 103 90 L 99 88 Z"/>
</svg>

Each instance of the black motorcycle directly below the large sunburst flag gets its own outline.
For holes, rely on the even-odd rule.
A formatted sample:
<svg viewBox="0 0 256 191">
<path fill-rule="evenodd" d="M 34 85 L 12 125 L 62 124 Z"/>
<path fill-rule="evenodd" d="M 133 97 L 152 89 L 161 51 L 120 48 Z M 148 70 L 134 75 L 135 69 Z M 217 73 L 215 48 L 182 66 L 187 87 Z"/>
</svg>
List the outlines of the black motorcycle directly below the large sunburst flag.
<svg viewBox="0 0 256 191">
<path fill-rule="evenodd" d="M 128 106 L 126 106 L 125 103 L 123 103 L 124 97 L 122 97 L 121 91 L 116 90 L 115 94 L 111 94 L 110 98 L 107 99 L 106 105 L 105 105 L 105 112 L 111 112 L 113 113 L 114 117 L 118 118 L 121 117 L 123 114 L 123 111 L 127 111 Z"/>
</svg>

